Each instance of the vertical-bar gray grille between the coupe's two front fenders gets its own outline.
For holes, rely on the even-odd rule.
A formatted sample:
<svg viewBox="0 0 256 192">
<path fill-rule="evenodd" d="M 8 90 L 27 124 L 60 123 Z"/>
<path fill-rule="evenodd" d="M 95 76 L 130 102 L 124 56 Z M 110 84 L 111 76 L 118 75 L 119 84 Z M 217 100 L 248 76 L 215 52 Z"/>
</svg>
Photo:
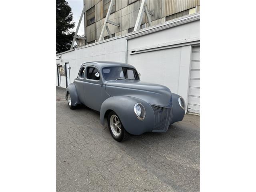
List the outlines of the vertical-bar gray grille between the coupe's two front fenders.
<svg viewBox="0 0 256 192">
<path fill-rule="evenodd" d="M 156 105 L 151 105 L 154 115 L 155 115 L 155 124 L 153 131 L 166 131 L 172 120 L 172 107 L 160 107 Z"/>
</svg>

